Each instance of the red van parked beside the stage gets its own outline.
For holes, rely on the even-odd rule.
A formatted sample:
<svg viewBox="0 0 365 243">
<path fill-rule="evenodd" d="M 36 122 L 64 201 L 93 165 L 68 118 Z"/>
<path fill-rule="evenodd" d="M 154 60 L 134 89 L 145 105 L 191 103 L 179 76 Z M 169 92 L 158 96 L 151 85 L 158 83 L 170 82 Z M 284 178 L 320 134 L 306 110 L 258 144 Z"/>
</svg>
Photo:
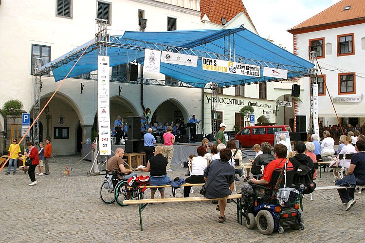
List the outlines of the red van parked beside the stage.
<svg viewBox="0 0 365 243">
<path fill-rule="evenodd" d="M 252 126 L 245 127 L 236 134 L 236 140 L 239 141 L 239 147 L 253 147 L 255 144 L 262 142 L 269 142 L 274 145 L 275 131 L 289 131 L 292 130 L 288 125 L 276 126 Z"/>
</svg>

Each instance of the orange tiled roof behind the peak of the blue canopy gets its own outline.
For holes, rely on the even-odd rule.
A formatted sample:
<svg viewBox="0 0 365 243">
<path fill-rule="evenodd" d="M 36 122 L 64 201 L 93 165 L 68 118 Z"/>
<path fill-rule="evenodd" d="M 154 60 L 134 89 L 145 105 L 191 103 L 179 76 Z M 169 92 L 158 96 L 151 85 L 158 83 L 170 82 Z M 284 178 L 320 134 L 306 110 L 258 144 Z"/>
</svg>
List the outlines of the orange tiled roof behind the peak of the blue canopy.
<svg viewBox="0 0 365 243">
<path fill-rule="evenodd" d="M 201 0 L 200 11 L 201 18 L 206 14 L 211 22 L 217 24 L 222 24 L 221 18 L 225 18 L 229 22 L 237 14 L 244 12 L 254 26 L 242 0 Z"/>
</svg>

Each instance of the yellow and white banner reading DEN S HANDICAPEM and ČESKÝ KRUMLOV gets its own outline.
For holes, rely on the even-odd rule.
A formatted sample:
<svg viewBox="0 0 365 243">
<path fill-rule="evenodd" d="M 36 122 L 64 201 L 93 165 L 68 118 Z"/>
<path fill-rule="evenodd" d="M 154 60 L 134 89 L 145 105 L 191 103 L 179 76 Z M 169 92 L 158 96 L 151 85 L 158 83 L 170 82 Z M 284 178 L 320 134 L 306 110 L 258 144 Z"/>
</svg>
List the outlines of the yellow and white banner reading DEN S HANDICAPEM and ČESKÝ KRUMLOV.
<svg viewBox="0 0 365 243">
<path fill-rule="evenodd" d="M 260 77 L 260 66 L 249 65 L 238 62 L 201 58 L 202 68 L 206 71 L 213 71 L 226 74 L 237 74 L 245 76 Z"/>
</svg>

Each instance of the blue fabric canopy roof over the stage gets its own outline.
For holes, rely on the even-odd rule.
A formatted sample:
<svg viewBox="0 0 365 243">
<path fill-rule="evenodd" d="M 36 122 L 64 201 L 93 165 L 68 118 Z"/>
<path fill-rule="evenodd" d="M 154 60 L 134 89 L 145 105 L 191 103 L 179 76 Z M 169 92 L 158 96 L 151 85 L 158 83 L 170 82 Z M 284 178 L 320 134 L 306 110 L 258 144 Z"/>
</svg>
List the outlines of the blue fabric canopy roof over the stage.
<svg viewBox="0 0 365 243">
<path fill-rule="evenodd" d="M 68 77 L 87 74 L 97 70 L 97 41 L 95 39 L 75 48 L 71 52 L 40 67 L 38 75 L 53 71 L 55 81 L 62 80 L 80 58 Z M 213 82 L 219 87 L 246 85 L 274 81 L 263 76 L 263 67 L 288 70 L 288 79 L 311 75 L 313 64 L 257 36 L 249 30 L 234 29 L 184 30 L 168 32 L 132 32 L 122 36 L 110 36 L 107 55 L 110 66 L 126 64 L 136 60 L 143 64 L 145 49 L 179 52 L 198 56 L 197 67 L 161 63 L 160 73 L 181 82 L 203 88 Z M 226 74 L 202 69 L 201 57 L 260 66 L 260 77 Z M 138 82 L 137 82 L 138 83 Z M 148 83 L 140 80 L 139 83 Z"/>
</svg>

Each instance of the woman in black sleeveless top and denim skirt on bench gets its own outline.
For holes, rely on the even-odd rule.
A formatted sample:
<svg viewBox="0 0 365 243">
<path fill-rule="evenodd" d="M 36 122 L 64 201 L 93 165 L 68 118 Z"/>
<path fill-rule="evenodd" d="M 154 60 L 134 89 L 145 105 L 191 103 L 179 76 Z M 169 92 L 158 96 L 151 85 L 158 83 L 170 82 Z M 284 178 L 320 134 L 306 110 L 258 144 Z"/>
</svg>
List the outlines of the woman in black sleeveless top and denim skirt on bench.
<svg viewBox="0 0 365 243">
<path fill-rule="evenodd" d="M 165 147 L 157 146 L 155 149 L 155 156 L 151 157 L 147 162 L 146 168 L 139 168 L 139 170 L 149 172 L 149 185 L 150 186 L 163 186 L 171 183 L 170 178 L 166 173 L 167 158 L 164 157 Z M 150 188 L 151 199 L 154 199 L 155 192 L 158 189 L 161 193 L 161 198 L 164 198 L 165 188 Z"/>
</svg>

